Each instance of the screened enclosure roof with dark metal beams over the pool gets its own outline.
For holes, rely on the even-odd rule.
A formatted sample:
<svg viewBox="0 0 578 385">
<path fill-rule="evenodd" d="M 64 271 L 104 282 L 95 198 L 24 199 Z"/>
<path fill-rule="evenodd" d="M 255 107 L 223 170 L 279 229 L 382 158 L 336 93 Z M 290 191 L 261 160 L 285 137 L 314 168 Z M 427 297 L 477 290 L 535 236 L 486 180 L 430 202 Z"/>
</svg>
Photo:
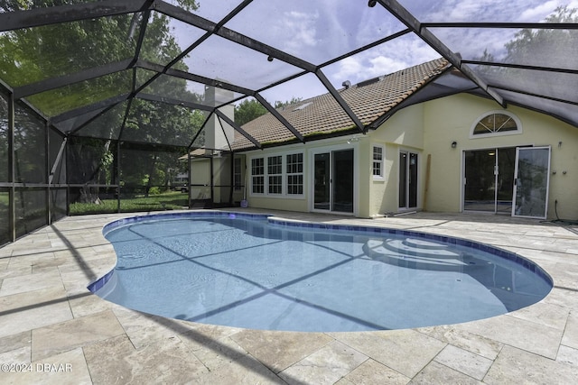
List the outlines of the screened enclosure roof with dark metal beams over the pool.
<svg viewBox="0 0 578 385">
<path fill-rule="evenodd" d="M 241 135 L 230 148 L 260 148 L 338 125 L 365 133 L 404 105 L 458 92 L 578 127 L 576 8 L 575 0 L 5 1 L 0 89 L 63 135 L 191 149 L 206 147 L 212 115 Z M 399 87 L 378 90 L 379 108 L 362 107 L 372 97 L 363 80 L 439 57 L 461 77 L 420 84 L 393 112 Z M 270 115 L 241 128 L 223 107 L 243 100 Z M 275 109 L 288 101 L 301 104 Z M 329 115 L 288 118 L 315 105 Z M 272 127 L 284 135 L 266 135 Z"/>
</svg>

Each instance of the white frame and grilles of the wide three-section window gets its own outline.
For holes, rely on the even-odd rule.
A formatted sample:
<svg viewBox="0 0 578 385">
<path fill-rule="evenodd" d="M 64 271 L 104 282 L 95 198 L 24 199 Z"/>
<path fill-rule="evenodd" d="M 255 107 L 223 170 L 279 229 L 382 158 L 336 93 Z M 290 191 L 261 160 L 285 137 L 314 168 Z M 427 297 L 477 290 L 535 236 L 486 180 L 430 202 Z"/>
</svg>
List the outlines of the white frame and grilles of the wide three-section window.
<svg viewBox="0 0 578 385">
<path fill-rule="evenodd" d="M 294 155 L 294 154 L 301 154 L 301 159 L 302 159 L 302 168 L 301 168 L 301 172 L 287 172 L 287 156 L 288 155 Z M 269 159 L 270 158 L 276 158 L 276 157 L 281 157 L 281 174 L 270 174 L 269 173 Z M 264 179 L 264 185 L 263 185 L 263 193 L 256 193 L 254 192 L 254 177 L 256 177 L 255 175 L 253 175 L 253 160 L 256 159 L 262 159 L 263 160 L 263 166 L 264 166 L 264 173 L 262 175 L 258 175 L 258 177 L 263 177 Z M 305 186 L 304 186 L 304 180 L 305 180 L 305 154 L 304 151 L 283 151 L 283 152 L 271 152 L 271 153 L 267 153 L 267 154 L 259 154 L 258 156 L 254 156 L 248 159 L 248 164 L 251 165 L 250 168 L 250 188 L 249 188 L 249 195 L 251 197 L 270 197 L 270 198 L 291 198 L 291 199 L 304 199 L 305 198 Z M 289 194 L 288 193 L 288 177 L 289 176 L 298 176 L 298 175 L 302 175 L 302 193 L 301 194 Z M 281 193 L 271 193 L 269 192 L 269 177 L 277 177 L 277 176 L 281 176 L 281 183 L 282 183 L 282 188 L 281 188 Z"/>
</svg>

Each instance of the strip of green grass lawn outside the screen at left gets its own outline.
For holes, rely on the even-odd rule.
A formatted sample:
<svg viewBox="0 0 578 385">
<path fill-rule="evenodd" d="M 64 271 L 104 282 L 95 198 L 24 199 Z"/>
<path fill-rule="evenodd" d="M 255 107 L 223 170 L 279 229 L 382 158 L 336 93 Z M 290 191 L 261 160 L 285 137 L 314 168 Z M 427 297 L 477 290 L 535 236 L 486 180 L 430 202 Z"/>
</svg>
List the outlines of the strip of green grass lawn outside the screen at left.
<svg viewBox="0 0 578 385">
<path fill-rule="evenodd" d="M 117 199 L 103 199 L 100 205 L 94 203 L 72 203 L 70 204 L 70 215 L 116 213 L 117 205 Z M 187 208 L 188 206 L 189 196 L 180 191 L 170 191 L 149 197 L 123 197 L 120 200 L 120 211 L 122 212 L 176 210 Z"/>
</svg>

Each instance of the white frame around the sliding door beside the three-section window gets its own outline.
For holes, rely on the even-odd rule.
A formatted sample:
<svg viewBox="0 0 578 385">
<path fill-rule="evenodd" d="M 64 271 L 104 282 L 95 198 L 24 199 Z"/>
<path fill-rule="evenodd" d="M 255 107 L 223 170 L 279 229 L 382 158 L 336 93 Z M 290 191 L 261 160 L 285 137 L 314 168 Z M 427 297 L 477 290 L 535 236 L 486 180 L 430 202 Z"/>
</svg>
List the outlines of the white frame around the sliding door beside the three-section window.
<svg viewBox="0 0 578 385">
<path fill-rule="evenodd" d="M 332 211 L 331 208 L 329 210 L 315 208 L 315 155 L 322 154 L 322 153 L 330 153 L 330 167 L 332 167 L 333 163 L 333 151 L 344 151 L 344 150 L 352 150 L 353 151 L 353 212 L 344 212 L 344 211 Z M 318 147 L 311 149 L 308 154 L 309 158 L 309 211 L 312 213 L 337 213 L 342 215 L 358 215 L 359 205 L 358 205 L 358 197 L 359 197 L 359 145 L 357 142 L 352 144 L 341 144 L 335 146 L 327 146 L 327 147 Z M 330 170 L 332 172 L 332 170 Z M 332 178 L 330 180 L 330 200 L 332 202 L 332 194 L 333 194 L 333 187 L 332 187 Z M 331 206 L 331 205 L 330 205 Z"/>
</svg>

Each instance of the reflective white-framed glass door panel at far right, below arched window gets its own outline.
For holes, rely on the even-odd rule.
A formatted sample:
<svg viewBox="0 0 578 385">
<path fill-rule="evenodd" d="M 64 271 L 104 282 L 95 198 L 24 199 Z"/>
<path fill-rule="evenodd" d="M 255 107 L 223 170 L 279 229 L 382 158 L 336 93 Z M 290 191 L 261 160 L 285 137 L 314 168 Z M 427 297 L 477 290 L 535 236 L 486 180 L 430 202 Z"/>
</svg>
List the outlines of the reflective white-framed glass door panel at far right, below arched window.
<svg viewBox="0 0 578 385">
<path fill-rule="evenodd" d="M 550 147 L 518 148 L 515 180 L 512 215 L 545 218 L 550 183 Z"/>
</svg>

